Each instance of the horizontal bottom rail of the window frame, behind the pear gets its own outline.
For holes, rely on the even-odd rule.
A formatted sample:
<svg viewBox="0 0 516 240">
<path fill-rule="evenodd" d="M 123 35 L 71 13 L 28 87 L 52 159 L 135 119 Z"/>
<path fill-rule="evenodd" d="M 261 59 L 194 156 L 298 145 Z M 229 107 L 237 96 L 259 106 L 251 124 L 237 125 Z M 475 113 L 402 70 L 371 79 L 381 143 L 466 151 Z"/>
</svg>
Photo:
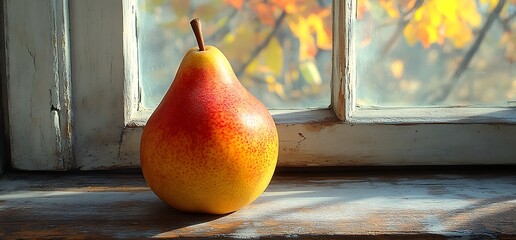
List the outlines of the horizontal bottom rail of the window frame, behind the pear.
<svg viewBox="0 0 516 240">
<path fill-rule="evenodd" d="M 355 125 L 336 121 L 331 110 L 273 117 L 283 167 L 516 164 L 516 125 Z M 124 162 L 139 166 L 142 132 L 124 132 Z"/>
</svg>

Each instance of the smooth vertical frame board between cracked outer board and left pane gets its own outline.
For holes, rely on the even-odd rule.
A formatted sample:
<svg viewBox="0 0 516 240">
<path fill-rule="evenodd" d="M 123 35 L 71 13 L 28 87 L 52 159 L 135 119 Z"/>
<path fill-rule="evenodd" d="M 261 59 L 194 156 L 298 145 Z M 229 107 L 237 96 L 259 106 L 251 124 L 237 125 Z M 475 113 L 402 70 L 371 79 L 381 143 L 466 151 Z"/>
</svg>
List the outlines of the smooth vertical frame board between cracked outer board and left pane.
<svg viewBox="0 0 516 240">
<path fill-rule="evenodd" d="M 122 1 L 70 1 L 74 151 L 78 169 L 118 161 L 124 129 Z"/>
</svg>

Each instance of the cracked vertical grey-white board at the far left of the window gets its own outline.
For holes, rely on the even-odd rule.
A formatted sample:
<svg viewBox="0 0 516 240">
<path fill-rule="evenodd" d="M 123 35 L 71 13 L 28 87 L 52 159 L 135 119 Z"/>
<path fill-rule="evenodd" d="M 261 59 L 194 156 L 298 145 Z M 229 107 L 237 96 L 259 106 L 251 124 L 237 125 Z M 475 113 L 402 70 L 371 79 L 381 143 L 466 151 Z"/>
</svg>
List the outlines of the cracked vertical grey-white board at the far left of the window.
<svg viewBox="0 0 516 240">
<path fill-rule="evenodd" d="M 67 1 L 2 3 L 11 164 L 25 170 L 70 169 L 73 159 Z"/>
</svg>

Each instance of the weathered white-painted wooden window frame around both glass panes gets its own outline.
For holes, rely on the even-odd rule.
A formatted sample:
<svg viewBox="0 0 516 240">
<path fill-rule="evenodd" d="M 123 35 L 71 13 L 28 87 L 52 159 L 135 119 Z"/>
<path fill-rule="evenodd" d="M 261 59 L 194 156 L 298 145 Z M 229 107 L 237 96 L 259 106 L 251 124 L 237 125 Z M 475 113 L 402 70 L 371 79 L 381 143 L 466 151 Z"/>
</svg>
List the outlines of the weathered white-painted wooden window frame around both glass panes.
<svg viewBox="0 0 516 240">
<path fill-rule="evenodd" d="M 74 137 L 60 135 L 60 141 L 54 137 L 56 124 L 48 113 L 47 99 L 47 86 L 55 86 L 55 64 L 47 63 L 43 59 L 46 55 L 40 53 L 48 51 L 45 46 L 52 46 L 52 41 L 38 39 L 33 43 L 36 36 L 22 36 L 27 38 L 24 40 L 14 34 L 15 29 L 49 27 L 59 21 L 13 13 L 22 13 L 25 7 L 36 10 L 43 7 L 36 5 L 68 1 L 6 2 L 7 19 L 11 21 L 6 32 L 10 40 L 7 52 L 13 166 L 22 170 L 138 167 L 140 136 L 150 111 L 138 107 L 135 0 L 70 0 L 70 45 L 63 51 L 71 53 L 68 86 L 72 86 L 73 121 L 68 122 Z M 28 6 L 22 8 L 23 4 Z M 516 164 L 515 108 L 357 108 L 354 62 L 358 56 L 352 41 L 355 1 L 335 0 L 333 6 L 332 104 L 329 109 L 272 112 L 280 136 L 279 166 Z M 34 53 L 36 57 L 32 57 Z M 44 83 L 44 87 L 34 87 L 36 82 Z M 20 97 L 27 94 L 39 97 L 32 102 L 34 105 Z M 27 120 L 31 116 L 37 124 Z M 58 154 L 56 149 L 68 146 L 63 141 L 73 144 L 73 154 L 64 154 L 73 158 L 63 158 L 63 151 Z M 61 148 L 56 148 L 59 143 Z"/>
</svg>

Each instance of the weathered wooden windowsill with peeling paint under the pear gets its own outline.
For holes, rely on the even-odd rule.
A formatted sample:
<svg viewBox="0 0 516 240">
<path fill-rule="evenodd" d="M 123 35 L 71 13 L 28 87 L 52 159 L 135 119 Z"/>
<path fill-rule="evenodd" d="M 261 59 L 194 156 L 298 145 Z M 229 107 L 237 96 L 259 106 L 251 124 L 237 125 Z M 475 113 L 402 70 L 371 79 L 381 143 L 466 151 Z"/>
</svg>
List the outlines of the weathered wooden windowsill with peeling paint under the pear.
<svg viewBox="0 0 516 240">
<path fill-rule="evenodd" d="M 0 239 L 516 236 L 516 176 L 281 173 L 250 206 L 210 216 L 162 203 L 140 174 L 8 174 Z"/>
</svg>

